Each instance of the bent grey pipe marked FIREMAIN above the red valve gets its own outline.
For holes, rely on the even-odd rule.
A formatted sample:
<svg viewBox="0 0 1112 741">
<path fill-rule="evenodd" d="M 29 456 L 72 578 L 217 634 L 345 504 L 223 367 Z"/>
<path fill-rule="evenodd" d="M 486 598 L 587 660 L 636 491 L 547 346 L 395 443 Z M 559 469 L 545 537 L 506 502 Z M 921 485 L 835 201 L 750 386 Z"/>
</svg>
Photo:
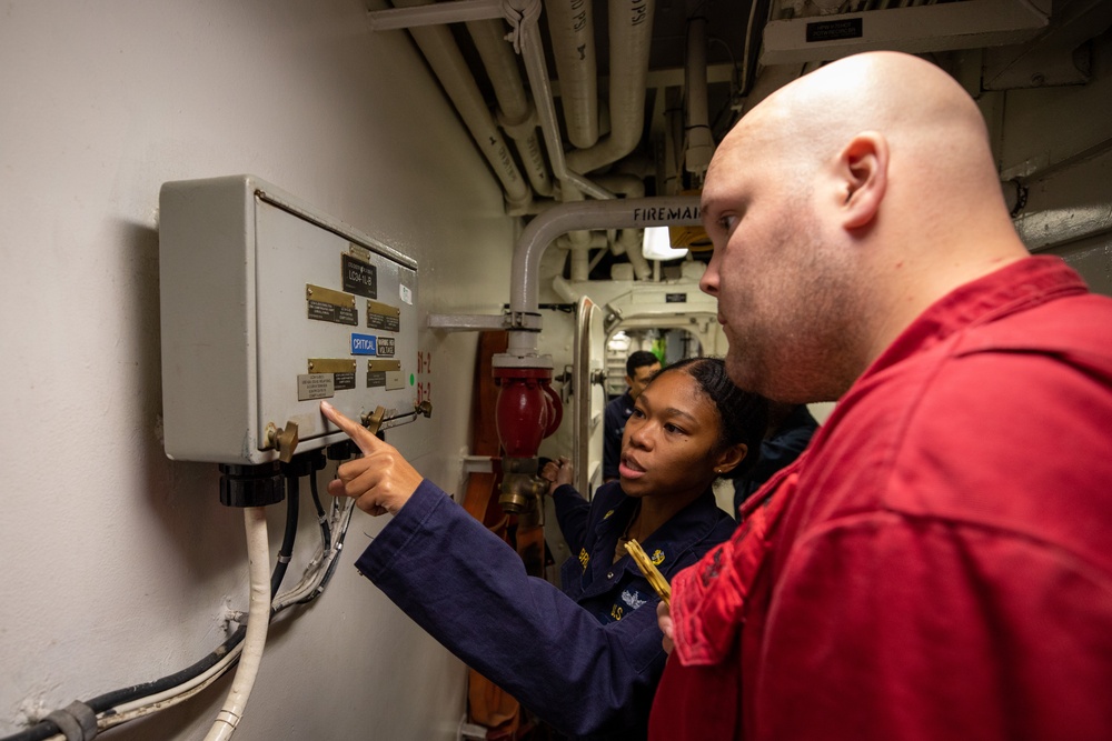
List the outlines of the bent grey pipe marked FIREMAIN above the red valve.
<svg viewBox="0 0 1112 741">
<path fill-rule="evenodd" d="M 537 313 L 540 257 L 560 234 L 577 229 L 693 227 L 698 223 L 699 204 L 696 196 L 620 198 L 555 206 L 530 221 L 517 240 L 510 267 L 510 312 Z M 512 330 L 506 354 L 536 356 L 537 332 Z"/>
</svg>

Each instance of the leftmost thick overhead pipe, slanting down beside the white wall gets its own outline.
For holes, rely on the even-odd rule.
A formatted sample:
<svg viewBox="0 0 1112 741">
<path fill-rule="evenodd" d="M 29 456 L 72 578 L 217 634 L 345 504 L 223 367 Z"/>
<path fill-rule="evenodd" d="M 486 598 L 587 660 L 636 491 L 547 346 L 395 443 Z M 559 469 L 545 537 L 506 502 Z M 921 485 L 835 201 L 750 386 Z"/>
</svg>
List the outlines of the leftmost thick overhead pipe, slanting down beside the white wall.
<svg viewBox="0 0 1112 741">
<path fill-rule="evenodd" d="M 395 0 L 395 3 L 411 8 L 427 6 L 428 0 Z M 509 148 L 506 147 L 502 131 L 498 130 L 494 117 L 483 100 L 483 93 L 479 92 L 475 78 L 467 72 L 467 62 L 451 38 L 451 32 L 444 26 L 417 26 L 411 27 L 409 33 L 440 80 L 479 151 L 486 157 L 502 182 L 507 210 L 510 213 L 524 212 L 533 200 L 533 190 L 514 163 Z"/>
</svg>

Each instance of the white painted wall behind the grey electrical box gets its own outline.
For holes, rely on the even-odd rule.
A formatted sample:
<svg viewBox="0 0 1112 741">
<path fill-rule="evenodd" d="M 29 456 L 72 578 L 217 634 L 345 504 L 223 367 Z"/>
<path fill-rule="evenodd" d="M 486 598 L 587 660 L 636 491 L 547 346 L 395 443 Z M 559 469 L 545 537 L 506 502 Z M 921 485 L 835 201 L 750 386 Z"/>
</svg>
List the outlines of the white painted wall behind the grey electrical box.
<svg viewBox="0 0 1112 741">
<path fill-rule="evenodd" d="M 516 227 L 408 36 L 371 33 L 361 0 L 3 2 L 0 100 L 6 735 L 191 664 L 247 607 L 240 512 L 158 437 L 162 182 L 269 180 L 413 256 L 423 312 L 495 312 Z M 450 488 L 475 338 L 420 346 L 434 418 L 389 439 Z M 328 591 L 271 629 L 237 739 L 455 738 L 463 665 L 350 565 L 381 524 L 358 513 Z M 202 738 L 228 685 L 107 738 Z"/>
</svg>

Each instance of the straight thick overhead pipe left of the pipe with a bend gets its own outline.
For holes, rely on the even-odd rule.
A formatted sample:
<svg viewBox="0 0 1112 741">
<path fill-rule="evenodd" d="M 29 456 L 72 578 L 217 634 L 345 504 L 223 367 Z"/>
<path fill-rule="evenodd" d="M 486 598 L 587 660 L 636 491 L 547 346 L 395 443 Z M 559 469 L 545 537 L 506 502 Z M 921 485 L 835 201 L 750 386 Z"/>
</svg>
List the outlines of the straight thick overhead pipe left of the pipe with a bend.
<svg viewBox="0 0 1112 741">
<path fill-rule="evenodd" d="M 598 64 L 592 0 L 547 0 L 567 138 L 578 149 L 598 141 Z"/>
</svg>

